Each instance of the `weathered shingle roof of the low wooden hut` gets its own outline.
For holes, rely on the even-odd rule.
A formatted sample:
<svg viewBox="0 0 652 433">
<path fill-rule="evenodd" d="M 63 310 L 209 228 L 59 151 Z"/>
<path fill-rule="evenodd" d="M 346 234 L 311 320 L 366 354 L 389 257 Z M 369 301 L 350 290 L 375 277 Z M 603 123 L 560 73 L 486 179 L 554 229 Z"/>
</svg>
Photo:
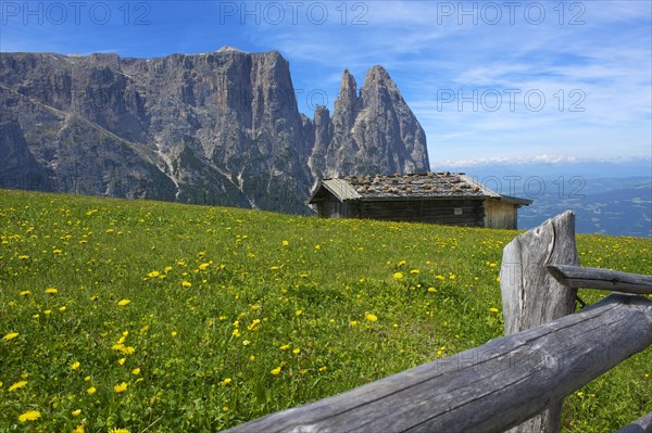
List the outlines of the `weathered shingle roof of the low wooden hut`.
<svg viewBox="0 0 652 433">
<path fill-rule="evenodd" d="M 490 198 L 510 200 L 519 204 L 531 203 L 529 200 L 501 195 L 463 173 L 438 171 L 393 176 L 347 176 L 344 178 L 324 179 L 311 196 L 311 203 L 321 187 L 325 187 L 342 202 L 346 200 L 390 200 L 403 198 Z"/>
</svg>

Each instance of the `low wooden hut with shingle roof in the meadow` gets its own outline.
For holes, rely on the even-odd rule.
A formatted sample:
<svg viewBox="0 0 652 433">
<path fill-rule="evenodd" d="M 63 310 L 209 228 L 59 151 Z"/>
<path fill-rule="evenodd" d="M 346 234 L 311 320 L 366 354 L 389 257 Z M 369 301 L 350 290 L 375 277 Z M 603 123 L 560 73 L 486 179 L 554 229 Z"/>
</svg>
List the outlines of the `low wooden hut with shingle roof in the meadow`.
<svg viewBox="0 0 652 433">
<path fill-rule="evenodd" d="M 323 179 L 310 204 L 322 218 L 372 218 L 516 229 L 531 200 L 499 194 L 465 174 L 348 176 Z"/>
</svg>

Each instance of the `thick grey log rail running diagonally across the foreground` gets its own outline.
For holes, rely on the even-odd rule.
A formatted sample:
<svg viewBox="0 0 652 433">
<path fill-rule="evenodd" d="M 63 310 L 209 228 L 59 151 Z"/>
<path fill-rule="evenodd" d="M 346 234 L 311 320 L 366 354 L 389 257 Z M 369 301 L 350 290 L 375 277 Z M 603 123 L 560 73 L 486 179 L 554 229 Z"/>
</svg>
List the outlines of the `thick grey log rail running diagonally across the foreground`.
<svg viewBox="0 0 652 433">
<path fill-rule="evenodd" d="M 652 301 L 612 294 L 580 313 L 227 432 L 502 432 L 651 344 Z"/>
</svg>

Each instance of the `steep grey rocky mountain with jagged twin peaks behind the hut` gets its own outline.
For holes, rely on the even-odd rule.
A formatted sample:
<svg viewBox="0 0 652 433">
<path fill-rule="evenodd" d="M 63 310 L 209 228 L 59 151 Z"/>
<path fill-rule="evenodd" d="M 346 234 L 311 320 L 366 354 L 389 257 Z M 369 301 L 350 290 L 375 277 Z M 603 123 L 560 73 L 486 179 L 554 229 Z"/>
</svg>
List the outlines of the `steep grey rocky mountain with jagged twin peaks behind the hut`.
<svg viewBox="0 0 652 433">
<path fill-rule="evenodd" d="M 344 71 L 299 113 L 277 52 L 0 53 L 0 187 L 305 213 L 323 176 L 428 169 L 397 85 Z"/>
</svg>

